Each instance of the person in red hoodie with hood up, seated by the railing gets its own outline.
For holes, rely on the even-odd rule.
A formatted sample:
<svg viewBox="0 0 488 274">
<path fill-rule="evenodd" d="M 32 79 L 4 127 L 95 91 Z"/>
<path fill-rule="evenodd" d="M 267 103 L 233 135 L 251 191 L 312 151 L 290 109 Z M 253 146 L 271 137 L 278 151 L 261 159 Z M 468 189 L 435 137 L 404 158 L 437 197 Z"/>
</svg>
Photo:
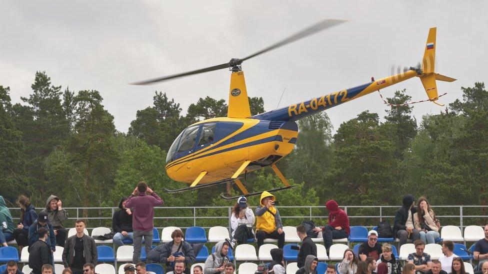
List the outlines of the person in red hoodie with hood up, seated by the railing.
<svg viewBox="0 0 488 274">
<path fill-rule="evenodd" d="M 334 200 L 328 200 L 325 207 L 329 211 L 328 225 L 322 228 L 314 228 L 315 232 L 322 231 L 323 243 L 325 249 L 328 250 L 332 245 L 332 239 L 342 239 L 349 237 L 349 218 L 345 211 L 339 209 L 339 205 Z"/>
</svg>

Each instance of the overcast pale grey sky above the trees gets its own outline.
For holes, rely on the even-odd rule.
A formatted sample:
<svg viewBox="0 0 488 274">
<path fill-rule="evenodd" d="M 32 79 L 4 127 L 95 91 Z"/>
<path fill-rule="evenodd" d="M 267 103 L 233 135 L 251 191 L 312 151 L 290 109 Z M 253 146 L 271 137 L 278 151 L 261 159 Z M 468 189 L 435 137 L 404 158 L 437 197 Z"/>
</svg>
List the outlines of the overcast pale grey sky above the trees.
<svg viewBox="0 0 488 274">
<path fill-rule="evenodd" d="M 439 102 L 461 97 L 460 87 L 487 81 L 488 1 L 0 1 L 0 85 L 13 102 L 31 92 L 35 71 L 72 91 L 96 89 L 127 132 L 136 111 L 164 91 L 183 111 L 199 97 L 228 97 L 229 71 L 151 86 L 127 83 L 227 62 L 268 46 L 325 18 L 347 23 L 243 63 L 249 96 L 266 111 L 353 87 L 390 74 L 392 64 L 415 65 L 428 28 L 437 27 L 436 70 L 457 78 L 438 82 Z M 418 78 L 382 90 L 426 94 Z M 377 93 L 327 110 L 334 129 L 369 110 L 384 116 Z M 439 113 L 430 103 L 413 115 Z"/>
</svg>

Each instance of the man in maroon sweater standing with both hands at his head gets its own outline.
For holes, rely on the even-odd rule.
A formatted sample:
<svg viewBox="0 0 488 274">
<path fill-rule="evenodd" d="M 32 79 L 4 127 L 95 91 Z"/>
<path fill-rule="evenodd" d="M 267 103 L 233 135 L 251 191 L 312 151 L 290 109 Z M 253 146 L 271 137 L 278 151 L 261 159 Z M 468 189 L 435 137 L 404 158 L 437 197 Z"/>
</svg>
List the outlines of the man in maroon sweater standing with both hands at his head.
<svg viewBox="0 0 488 274">
<path fill-rule="evenodd" d="M 162 205 L 162 200 L 145 182 L 139 182 L 132 195 L 125 202 L 125 208 L 132 210 L 132 238 L 134 253 L 132 263 L 137 264 L 140 259 L 142 237 L 144 237 L 145 252 L 149 254 L 152 246 L 152 229 L 154 228 L 154 207 Z"/>
</svg>

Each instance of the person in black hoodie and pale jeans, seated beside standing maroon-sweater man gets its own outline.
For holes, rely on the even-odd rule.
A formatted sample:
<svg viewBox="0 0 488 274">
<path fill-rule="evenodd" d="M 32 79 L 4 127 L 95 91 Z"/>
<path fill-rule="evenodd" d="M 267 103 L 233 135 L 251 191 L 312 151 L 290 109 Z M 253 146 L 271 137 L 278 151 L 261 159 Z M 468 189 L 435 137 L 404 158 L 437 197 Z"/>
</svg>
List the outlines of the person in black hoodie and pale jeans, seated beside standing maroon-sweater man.
<svg viewBox="0 0 488 274">
<path fill-rule="evenodd" d="M 119 211 L 112 217 L 113 245 L 115 248 L 123 246 L 122 240 L 132 240 L 132 212 L 125 207 L 127 198 L 122 198 L 118 203 Z"/>
</svg>

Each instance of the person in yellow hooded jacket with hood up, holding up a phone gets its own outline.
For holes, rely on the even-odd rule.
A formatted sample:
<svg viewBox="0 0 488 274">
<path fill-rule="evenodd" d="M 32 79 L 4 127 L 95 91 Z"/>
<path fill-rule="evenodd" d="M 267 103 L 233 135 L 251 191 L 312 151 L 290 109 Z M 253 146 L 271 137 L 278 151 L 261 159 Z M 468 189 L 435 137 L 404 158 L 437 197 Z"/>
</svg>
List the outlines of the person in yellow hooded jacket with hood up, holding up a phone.
<svg viewBox="0 0 488 274">
<path fill-rule="evenodd" d="M 278 248 L 284 246 L 284 232 L 278 210 L 274 207 L 276 198 L 269 192 L 261 193 L 260 206 L 256 207 L 256 239 L 257 248 L 263 244 L 264 239 L 277 239 Z"/>
</svg>

